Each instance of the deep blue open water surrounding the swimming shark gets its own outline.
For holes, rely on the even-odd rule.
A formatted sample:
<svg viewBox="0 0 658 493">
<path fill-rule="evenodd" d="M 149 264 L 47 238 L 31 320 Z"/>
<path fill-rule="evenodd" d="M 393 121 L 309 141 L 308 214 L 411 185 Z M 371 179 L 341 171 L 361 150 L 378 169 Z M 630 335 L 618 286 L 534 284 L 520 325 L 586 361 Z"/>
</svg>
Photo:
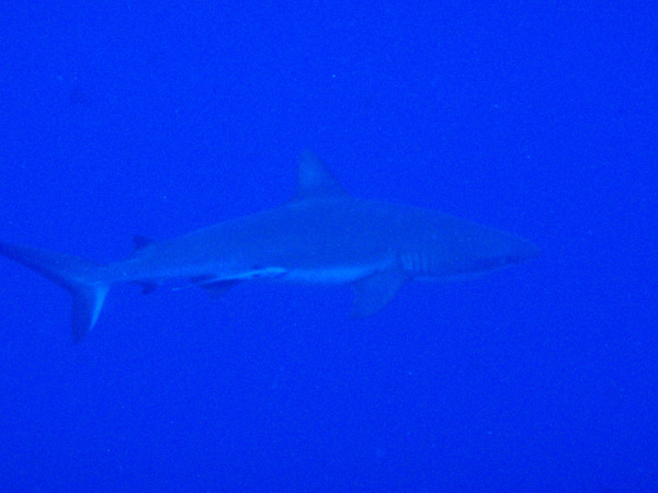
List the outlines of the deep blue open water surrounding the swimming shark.
<svg viewBox="0 0 658 493">
<path fill-rule="evenodd" d="M 543 255 L 363 321 L 349 288 L 121 286 L 80 346 L 0 260 L 0 490 L 658 491 L 655 12 L 12 3 L 3 241 L 121 259 L 281 204 L 309 148 Z"/>
</svg>

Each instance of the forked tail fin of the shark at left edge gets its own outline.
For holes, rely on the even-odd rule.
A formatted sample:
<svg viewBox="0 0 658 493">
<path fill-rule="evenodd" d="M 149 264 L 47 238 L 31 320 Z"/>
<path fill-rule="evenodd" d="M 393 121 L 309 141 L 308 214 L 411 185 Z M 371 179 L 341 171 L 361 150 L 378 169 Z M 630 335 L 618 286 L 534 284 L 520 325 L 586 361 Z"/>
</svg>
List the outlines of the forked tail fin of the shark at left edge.
<svg viewBox="0 0 658 493">
<path fill-rule="evenodd" d="M 72 334 L 79 343 L 93 329 L 110 285 L 99 279 L 100 266 L 77 256 L 0 243 L 0 254 L 57 283 L 73 297 Z"/>
</svg>

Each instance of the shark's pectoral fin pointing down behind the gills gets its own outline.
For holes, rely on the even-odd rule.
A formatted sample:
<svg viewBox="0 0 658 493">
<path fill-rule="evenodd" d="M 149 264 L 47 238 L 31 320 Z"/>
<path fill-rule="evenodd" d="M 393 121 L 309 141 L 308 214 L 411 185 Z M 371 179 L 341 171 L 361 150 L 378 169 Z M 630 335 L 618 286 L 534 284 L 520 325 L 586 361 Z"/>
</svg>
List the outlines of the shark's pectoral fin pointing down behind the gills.
<svg viewBox="0 0 658 493">
<path fill-rule="evenodd" d="M 354 283 L 352 317 L 370 317 L 384 308 L 405 284 L 404 273 L 392 270 L 375 273 Z"/>
</svg>

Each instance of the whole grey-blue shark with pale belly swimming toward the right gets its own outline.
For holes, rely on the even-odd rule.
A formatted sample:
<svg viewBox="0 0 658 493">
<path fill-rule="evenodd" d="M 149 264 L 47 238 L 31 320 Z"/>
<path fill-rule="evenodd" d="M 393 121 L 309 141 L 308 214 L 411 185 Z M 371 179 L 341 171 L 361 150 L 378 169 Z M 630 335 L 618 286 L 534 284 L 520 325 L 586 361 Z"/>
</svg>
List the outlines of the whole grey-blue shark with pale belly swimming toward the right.
<svg viewBox="0 0 658 493">
<path fill-rule="evenodd" d="M 436 210 L 352 196 L 310 152 L 298 162 L 287 203 L 172 239 L 134 238 L 126 260 L 98 264 L 68 254 L 0 242 L 0 254 L 72 296 L 72 340 L 97 324 L 105 297 L 121 283 L 144 293 L 160 286 L 222 295 L 251 279 L 352 285 L 352 316 L 382 310 L 412 279 L 452 279 L 538 254 L 513 233 Z"/>
</svg>

